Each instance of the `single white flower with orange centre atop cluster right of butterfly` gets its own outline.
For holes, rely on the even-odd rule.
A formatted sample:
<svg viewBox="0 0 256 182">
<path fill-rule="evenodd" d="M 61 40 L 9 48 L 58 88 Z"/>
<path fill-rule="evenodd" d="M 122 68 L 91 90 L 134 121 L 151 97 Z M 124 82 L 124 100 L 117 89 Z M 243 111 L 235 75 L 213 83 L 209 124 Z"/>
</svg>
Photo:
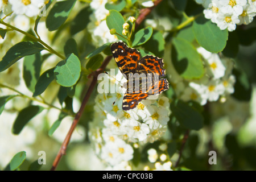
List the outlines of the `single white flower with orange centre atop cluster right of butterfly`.
<svg viewBox="0 0 256 182">
<path fill-rule="evenodd" d="M 225 75 L 226 68 L 217 53 L 213 53 L 209 59 L 207 59 L 207 62 L 214 78 L 221 78 Z"/>
</svg>

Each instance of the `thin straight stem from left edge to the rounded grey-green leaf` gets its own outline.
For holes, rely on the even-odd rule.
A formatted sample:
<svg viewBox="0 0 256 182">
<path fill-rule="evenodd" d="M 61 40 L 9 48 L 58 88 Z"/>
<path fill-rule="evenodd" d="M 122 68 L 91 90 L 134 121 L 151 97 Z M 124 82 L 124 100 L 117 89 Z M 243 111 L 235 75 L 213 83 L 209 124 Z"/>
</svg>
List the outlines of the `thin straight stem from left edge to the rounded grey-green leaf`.
<svg viewBox="0 0 256 182">
<path fill-rule="evenodd" d="M 20 33 L 22 33 L 22 34 L 28 36 L 28 37 L 30 37 L 31 39 L 36 40 L 36 42 L 39 42 L 39 43 L 42 44 L 44 47 L 46 47 L 46 48 L 47 48 L 47 49 L 46 49 L 47 51 L 49 51 L 49 52 L 51 52 L 51 53 L 54 53 L 55 55 L 59 56 L 59 57 L 60 57 L 61 59 L 63 59 L 63 60 L 65 59 L 65 56 L 61 55 L 59 52 L 55 51 L 53 48 L 51 48 L 50 46 L 48 46 L 48 44 L 46 44 L 45 42 L 43 42 L 43 40 L 38 39 L 38 38 L 36 38 L 35 36 L 33 36 L 33 35 L 31 35 L 31 34 L 28 34 L 27 32 L 24 32 L 23 30 L 20 30 L 19 28 L 16 28 L 16 27 L 12 26 L 12 25 L 9 24 L 9 23 L 5 23 L 5 22 L 3 22 L 2 20 L 0 20 L 0 23 L 3 24 L 3 25 L 5 25 L 5 26 L 7 26 L 7 27 L 10 27 L 10 28 L 12 28 L 13 30 L 16 30 L 16 31 L 18 31 L 18 32 L 20 32 Z"/>
</svg>

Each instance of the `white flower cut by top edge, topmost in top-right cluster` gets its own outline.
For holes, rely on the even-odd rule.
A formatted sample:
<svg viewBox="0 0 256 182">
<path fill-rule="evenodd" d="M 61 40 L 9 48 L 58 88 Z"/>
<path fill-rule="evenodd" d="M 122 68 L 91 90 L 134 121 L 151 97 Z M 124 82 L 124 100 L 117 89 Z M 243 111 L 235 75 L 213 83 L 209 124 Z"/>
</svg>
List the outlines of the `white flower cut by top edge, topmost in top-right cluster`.
<svg viewBox="0 0 256 182">
<path fill-rule="evenodd" d="M 223 13 L 228 13 L 230 11 L 230 7 L 234 10 L 234 15 L 240 15 L 243 13 L 243 6 L 246 5 L 247 0 L 221 0 L 222 11 Z"/>
</svg>

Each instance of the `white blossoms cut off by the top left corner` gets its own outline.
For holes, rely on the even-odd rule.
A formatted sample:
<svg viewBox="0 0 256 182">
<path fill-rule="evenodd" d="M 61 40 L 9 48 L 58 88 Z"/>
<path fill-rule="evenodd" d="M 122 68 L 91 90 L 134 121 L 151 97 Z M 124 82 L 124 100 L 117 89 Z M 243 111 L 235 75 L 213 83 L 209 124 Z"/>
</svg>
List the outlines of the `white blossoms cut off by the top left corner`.
<svg viewBox="0 0 256 182">
<path fill-rule="evenodd" d="M 45 0 L 2 0 L 0 1 L 0 11 L 9 15 L 12 12 L 17 15 L 28 17 L 37 16 L 45 5 Z"/>
</svg>

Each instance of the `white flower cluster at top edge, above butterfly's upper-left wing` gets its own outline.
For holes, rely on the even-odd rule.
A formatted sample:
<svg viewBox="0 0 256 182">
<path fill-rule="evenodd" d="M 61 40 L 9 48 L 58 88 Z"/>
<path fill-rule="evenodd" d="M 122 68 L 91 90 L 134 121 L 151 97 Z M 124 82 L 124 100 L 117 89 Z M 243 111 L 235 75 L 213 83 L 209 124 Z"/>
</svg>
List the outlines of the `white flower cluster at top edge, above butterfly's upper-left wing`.
<svg viewBox="0 0 256 182">
<path fill-rule="evenodd" d="M 90 3 L 90 8 L 93 13 L 90 15 L 90 23 L 88 23 L 88 31 L 92 35 L 94 46 L 102 46 L 108 42 L 117 41 L 117 36 L 110 34 L 106 24 L 106 16 L 109 10 L 105 9 L 108 0 L 93 0 Z"/>
</svg>

